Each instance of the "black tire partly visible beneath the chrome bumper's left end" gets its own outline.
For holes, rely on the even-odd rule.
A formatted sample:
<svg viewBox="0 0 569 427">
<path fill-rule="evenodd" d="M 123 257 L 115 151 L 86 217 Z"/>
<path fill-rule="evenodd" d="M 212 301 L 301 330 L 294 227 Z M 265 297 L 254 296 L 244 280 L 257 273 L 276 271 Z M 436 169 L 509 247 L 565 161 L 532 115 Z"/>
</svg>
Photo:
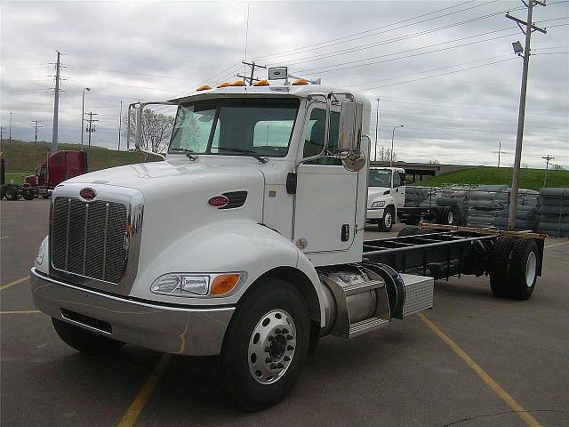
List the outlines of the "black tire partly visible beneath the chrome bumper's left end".
<svg viewBox="0 0 569 427">
<path fill-rule="evenodd" d="M 55 332 L 69 347 L 92 356 L 113 356 L 124 346 L 124 342 L 95 334 L 58 318 L 52 318 L 52 324 Z"/>
</svg>

